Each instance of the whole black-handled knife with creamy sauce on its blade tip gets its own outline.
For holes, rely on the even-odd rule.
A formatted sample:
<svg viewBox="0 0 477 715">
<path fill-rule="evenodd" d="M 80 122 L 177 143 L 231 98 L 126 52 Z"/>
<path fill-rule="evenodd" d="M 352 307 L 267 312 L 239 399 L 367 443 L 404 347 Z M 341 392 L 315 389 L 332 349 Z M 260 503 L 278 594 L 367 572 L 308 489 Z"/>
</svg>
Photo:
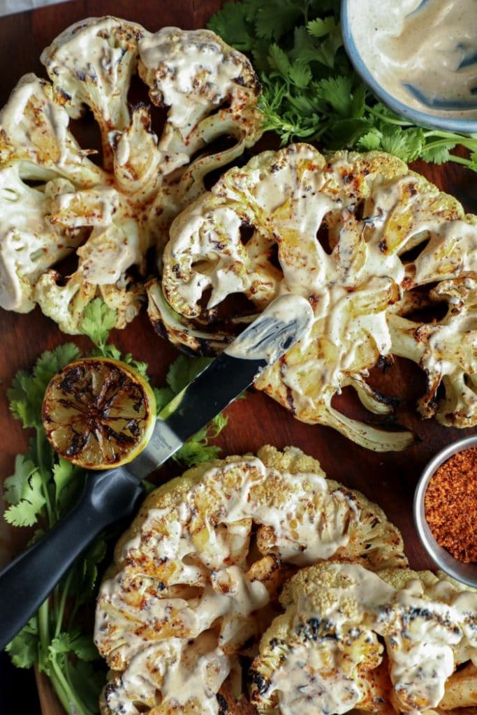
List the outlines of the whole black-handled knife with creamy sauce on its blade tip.
<svg viewBox="0 0 477 715">
<path fill-rule="evenodd" d="M 283 295 L 162 410 L 142 452 L 125 465 L 87 474 L 77 506 L 0 573 L 0 649 L 4 649 L 75 559 L 106 526 L 129 516 L 142 480 L 207 425 L 309 330 L 313 311 Z"/>
</svg>

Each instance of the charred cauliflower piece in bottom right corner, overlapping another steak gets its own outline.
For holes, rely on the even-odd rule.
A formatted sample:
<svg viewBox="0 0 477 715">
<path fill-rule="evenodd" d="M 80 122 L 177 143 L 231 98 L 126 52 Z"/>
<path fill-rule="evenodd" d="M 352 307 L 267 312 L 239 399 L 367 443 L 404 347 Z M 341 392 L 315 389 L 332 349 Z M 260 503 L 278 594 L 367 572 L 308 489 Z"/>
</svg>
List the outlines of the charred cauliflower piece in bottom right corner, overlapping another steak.
<svg viewBox="0 0 477 715">
<path fill-rule="evenodd" d="M 477 593 L 428 571 L 322 563 L 293 576 L 280 601 L 252 664 L 260 714 L 477 706 Z"/>
</svg>

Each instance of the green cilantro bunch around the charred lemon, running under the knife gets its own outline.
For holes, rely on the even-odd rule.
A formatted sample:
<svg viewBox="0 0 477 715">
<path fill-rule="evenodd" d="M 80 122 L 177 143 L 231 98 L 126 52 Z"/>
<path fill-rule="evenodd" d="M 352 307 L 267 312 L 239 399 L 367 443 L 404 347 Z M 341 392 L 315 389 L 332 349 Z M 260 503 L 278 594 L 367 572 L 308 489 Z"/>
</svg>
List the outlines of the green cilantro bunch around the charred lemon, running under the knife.
<svg viewBox="0 0 477 715">
<path fill-rule="evenodd" d="M 94 343 L 94 355 L 123 360 L 147 376 L 147 364 L 121 355 L 108 342 L 116 325 L 116 315 L 102 300 L 87 306 L 82 332 Z M 84 483 L 85 471 L 59 458 L 46 440 L 41 422 L 41 404 L 49 380 L 64 365 L 81 357 L 72 342 L 43 352 L 32 370 L 16 374 L 8 392 L 11 413 L 32 430 L 29 450 L 17 455 L 14 474 L 4 480 L 4 518 L 11 526 L 33 527 L 36 540 L 66 516 Z M 154 388 L 158 410 L 180 392 L 209 360 L 181 355 L 167 373 L 167 386 Z M 200 430 L 175 455 L 187 466 L 215 458 L 219 452 L 210 444 L 227 424 L 219 415 Z M 149 485 L 146 485 L 149 486 Z M 56 586 L 50 598 L 39 608 L 6 650 L 14 665 L 31 668 L 38 665 L 54 687 L 69 715 L 97 715 L 99 693 L 106 681 L 106 669 L 99 659 L 92 633 L 82 618 L 84 608 L 92 611 L 99 568 L 107 553 L 107 544 L 117 538 L 114 528 L 99 536 L 79 557 Z"/>
</svg>

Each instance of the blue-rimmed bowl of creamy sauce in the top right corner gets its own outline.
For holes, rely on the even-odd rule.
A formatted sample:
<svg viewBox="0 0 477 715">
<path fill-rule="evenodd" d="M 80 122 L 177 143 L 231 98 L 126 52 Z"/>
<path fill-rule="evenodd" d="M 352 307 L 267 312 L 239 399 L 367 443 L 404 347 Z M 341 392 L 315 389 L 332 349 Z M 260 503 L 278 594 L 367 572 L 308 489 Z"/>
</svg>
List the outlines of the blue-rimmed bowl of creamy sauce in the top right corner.
<svg viewBox="0 0 477 715">
<path fill-rule="evenodd" d="M 388 107 L 477 132 L 477 0 L 343 0 L 341 19 L 356 71 Z"/>
</svg>

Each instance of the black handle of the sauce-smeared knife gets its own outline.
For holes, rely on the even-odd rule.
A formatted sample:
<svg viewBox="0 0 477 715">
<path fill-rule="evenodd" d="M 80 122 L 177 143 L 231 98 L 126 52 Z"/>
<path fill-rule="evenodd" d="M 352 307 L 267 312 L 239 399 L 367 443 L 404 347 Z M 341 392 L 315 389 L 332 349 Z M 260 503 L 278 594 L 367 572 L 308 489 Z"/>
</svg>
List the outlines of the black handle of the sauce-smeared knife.
<svg viewBox="0 0 477 715">
<path fill-rule="evenodd" d="M 77 506 L 0 573 L 0 650 L 24 627 L 94 537 L 137 506 L 141 486 L 121 468 L 89 473 Z"/>
</svg>

